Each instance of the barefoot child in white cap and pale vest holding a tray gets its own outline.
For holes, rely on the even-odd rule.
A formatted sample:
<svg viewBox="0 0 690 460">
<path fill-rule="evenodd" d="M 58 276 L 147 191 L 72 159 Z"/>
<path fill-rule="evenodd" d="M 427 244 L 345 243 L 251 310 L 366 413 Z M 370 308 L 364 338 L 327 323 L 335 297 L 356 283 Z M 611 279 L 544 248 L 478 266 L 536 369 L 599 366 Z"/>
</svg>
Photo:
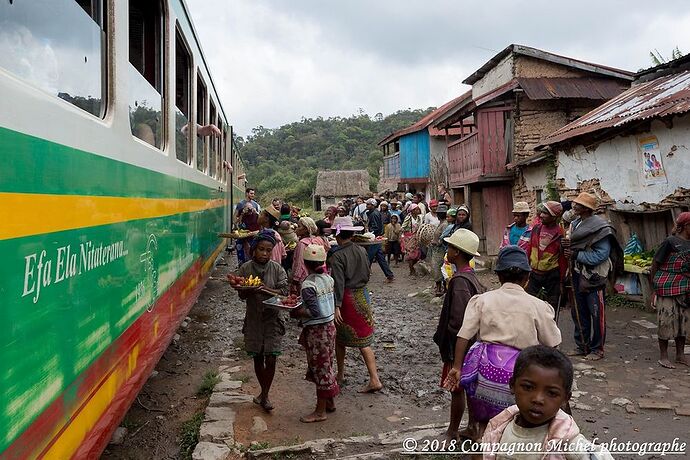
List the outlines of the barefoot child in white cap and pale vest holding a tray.
<svg viewBox="0 0 690 460">
<path fill-rule="evenodd" d="M 326 274 L 326 250 L 318 244 L 308 245 L 302 255 L 309 275 L 302 281 L 304 305 L 291 312 L 302 318 L 299 343 L 307 352 L 306 380 L 316 384 L 316 409 L 300 417 L 304 423 L 326 420 L 326 412 L 335 411 L 334 398 L 340 392 L 333 370 L 335 356 L 335 299 L 333 278 Z"/>
</svg>

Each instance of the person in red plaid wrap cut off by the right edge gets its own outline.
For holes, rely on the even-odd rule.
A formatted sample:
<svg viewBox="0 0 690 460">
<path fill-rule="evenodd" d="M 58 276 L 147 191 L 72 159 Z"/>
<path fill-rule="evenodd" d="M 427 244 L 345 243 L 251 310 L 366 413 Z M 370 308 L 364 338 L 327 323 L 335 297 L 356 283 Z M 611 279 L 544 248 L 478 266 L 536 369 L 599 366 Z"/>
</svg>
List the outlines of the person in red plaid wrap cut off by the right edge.
<svg viewBox="0 0 690 460">
<path fill-rule="evenodd" d="M 676 364 L 688 366 L 684 350 L 690 331 L 690 212 L 678 215 L 674 233 L 654 254 L 649 275 L 656 291 L 659 365 L 675 368 L 668 359 L 668 341 L 673 339 Z"/>
</svg>

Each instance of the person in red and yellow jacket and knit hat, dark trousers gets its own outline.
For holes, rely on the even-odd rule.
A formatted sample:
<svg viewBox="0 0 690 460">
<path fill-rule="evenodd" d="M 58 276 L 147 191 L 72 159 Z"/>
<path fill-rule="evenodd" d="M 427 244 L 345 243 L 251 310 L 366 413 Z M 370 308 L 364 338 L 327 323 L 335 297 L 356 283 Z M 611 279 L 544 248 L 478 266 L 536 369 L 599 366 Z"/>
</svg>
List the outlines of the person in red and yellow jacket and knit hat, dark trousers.
<svg viewBox="0 0 690 460">
<path fill-rule="evenodd" d="M 545 201 L 537 205 L 540 223 L 532 227 L 527 257 L 532 273 L 527 292 L 536 296 L 546 291 L 546 301 L 558 311 L 561 284 L 568 268 L 568 260 L 563 254 L 561 240 L 565 232 L 559 223 L 563 206 L 557 201 Z"/>
</svg>

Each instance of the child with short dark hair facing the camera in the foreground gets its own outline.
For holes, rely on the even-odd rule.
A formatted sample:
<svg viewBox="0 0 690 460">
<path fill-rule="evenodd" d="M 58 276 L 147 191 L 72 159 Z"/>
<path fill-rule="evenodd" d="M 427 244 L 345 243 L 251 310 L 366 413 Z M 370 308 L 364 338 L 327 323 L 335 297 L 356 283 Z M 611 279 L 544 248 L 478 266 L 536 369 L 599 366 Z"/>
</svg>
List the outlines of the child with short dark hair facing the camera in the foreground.
<svg viewBox="0 0 690 460">
<path fill-rule="evenodd" d="M 482 443 L 501 447 L 484 452 L 485 459 L 608 460 L 611 454 L 588 441 L 575 420 L 561 410 L 570 399 L 573 365 L 555 348 L 536 345 L 523 349 L 515 362 L 510 388 L 517 405 L 492 418 Z M 514 453 L 511 447 L 541 444 L 538 453 Z"/>
</svg>

